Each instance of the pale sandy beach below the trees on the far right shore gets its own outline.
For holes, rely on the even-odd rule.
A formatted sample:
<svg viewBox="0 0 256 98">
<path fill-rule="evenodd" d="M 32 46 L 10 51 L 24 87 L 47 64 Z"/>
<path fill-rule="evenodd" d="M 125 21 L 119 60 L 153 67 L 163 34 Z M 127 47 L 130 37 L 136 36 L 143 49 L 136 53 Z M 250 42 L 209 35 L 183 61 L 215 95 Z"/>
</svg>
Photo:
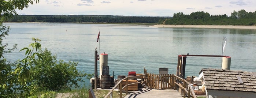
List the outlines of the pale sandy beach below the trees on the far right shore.
<svg viewBox="0 0 256 98">
<path fill-rule="evenodd" d="M 222 29 L 256 29 L 256 26 L 232 26 L 232 25 L 167 25 L 157 24 L 152 27 L 166 28 L 222 28 Z"/>
</svg>

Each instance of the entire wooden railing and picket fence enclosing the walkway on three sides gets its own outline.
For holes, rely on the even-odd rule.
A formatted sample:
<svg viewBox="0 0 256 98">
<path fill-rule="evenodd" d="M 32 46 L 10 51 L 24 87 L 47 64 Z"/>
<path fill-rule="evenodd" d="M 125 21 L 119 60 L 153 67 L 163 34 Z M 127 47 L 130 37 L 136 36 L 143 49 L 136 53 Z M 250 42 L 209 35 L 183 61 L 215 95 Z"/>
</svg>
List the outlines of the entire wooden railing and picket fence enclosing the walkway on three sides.
<svg viewBox="0 0 256 98">
<path fill-rule="evenodd" d="M 144 78 L 143 81 L 128 84 L 129 79 L 142 78 L 142 77 Z M 126 80 L 126 85 L 122 87 L 123 80 Z M 196 98 L 196 95 L 194 93 L 194 90 L 192 89 L 192 86 L 190 86 L 189 85 L 190 83 L 185 79 L 182 79 L 179 76 L 174 74 L 161 75 L 161 79 L 160 79 L 160 76 L 158 74 L 152 74 L 152 73 L 147 73 L 147 74 L 137 75 L 137 76 L 128 76 L 122 80 L 119 80 L 119 82 L 110 90 L 110 92 L 104 98 L 108 98 L 108 97 L 112 98 L 112 92 L 115 90 L 117 86 L 119 86 L 118 89 L 120 93 L 120 98 L 122 98 L 122 91 L 124 88 L 126 88 L 126 95 L 127 95 L 128 86 L 132 84 L 138 84 L 138 83 L 145 83 L 145 86 L 149 88 L 154 88 L 154 89 L 174 88 L 174 90 L 177 90 L 177 88 L 179 87 L 181 90 L 183 90 L 184 98 L 186 98 L 186 95 L 188 95 L 188 98 L 190 97 Z M 188 90 L 187 90 L 187 87 L 188 87 Z"/>
</svg>

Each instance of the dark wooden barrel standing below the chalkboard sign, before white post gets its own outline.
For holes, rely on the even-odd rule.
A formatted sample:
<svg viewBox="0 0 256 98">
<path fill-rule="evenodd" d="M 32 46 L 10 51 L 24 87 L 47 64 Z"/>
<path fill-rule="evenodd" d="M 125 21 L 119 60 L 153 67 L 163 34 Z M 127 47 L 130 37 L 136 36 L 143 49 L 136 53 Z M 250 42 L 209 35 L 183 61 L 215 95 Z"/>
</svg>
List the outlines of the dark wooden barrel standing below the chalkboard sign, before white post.
<svg viewBox="0 0 256 98">
<path fill-rule="evenodd" d="M 110 89 L 110 75 L 101 75 L 100 87 L 102 89 Z"/>
</svg>

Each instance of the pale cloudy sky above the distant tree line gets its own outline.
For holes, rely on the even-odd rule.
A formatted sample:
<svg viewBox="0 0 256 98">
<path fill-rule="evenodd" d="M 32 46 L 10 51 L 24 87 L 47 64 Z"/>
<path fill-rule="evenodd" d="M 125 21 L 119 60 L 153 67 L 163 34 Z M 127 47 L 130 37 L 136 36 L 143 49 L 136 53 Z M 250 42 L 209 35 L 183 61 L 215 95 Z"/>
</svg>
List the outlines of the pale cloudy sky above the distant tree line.
<svg viewBox="0 0 256 98">
<path fill-rule="evenodd" d="M 231 12 L 256 11 L 256 0 L 40 0 L 19 15 L 123 15 L 173 16 L 204 11 L 230 16 Z"/>
</svg>

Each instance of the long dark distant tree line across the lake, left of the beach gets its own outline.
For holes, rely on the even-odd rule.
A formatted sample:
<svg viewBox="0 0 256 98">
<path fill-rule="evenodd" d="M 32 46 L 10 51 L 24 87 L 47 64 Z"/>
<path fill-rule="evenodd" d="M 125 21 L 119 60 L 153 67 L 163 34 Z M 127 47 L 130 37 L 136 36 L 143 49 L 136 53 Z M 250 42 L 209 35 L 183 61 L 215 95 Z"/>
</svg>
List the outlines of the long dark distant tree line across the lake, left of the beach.
<svg viewBox="0 0 256 98">
<path fill-rule="evenodd" d="M 114 15 L 16 15 L 6 22 L 57 22 L 57 23 L 158 23 L 170 17 L 114 16 Z"/>
</svg>

